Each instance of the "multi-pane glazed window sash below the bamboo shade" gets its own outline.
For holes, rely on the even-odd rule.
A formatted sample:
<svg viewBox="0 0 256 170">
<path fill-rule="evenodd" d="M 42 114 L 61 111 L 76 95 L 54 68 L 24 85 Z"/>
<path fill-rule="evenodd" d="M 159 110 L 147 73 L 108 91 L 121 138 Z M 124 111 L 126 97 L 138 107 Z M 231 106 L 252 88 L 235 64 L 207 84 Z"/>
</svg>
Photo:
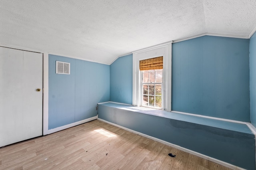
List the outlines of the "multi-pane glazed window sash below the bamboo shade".
<svg viewBox="0 0 256 170">
<path fill-rule="evenodd" d="M 162 73 L 163 69 L 141 71 L 142 106 L 162 109 Z"/>
</svg>

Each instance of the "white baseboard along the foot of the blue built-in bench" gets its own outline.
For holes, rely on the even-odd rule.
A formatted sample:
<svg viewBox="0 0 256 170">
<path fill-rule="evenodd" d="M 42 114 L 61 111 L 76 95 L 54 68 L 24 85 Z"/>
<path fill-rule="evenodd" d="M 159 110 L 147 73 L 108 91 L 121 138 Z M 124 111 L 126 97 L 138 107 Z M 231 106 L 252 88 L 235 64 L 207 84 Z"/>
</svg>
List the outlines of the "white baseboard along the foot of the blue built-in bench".
<svg viewBox="0 0 256 170">
<path fill-rule="evenodd" d="M 137 132 L 137 131 L 135 131 L 135 130 L 132 130 L 132 129 L 129 129 L 129 128 L 126 128 L 126 127 L 122 127 L 122 126 L 117 125 L 117 124 L 115 124 L 115 123 L 111 123 L 111 122 L 108 122 L 108 121 L 105 121 L 105 120 L 99 119 L 99 118 L 98 118 L 98 120 L 99 120 L 99 121 L 102 121 L 102 122 L 105 122 L 105 123 L 108 123 L 108 124 L 110 124 L 110 125 L 113 125 L 113 126 L 122 128 L 122 129 L 124 129 L 124 130 L 129 131 L 129 132 L 133 132 L 133 133 L 135 133 L 135 134 L 139 134 L 140 136 L 144 136 L 144 137 L 146 137 L 146 138 L 149 138 L 149 139 L 155 140 L 155 141 L 157 141 L 157 142 L 166 144 L 166 145 L 168 145 L 168 146 L 172 146 L 172 147 L 177 148 L 177 149 L 179 149 L 179 150 L 182 150 L 182 151 L 184 151 L 184 152 L 188 152 L 188 153 L 190 153 L 190 154 L 199 156 L 200 158 L 204 158 L 204 159 L 206 159 L 206 160 L 210 160 L 210 161 L 212 161 L 212 162 L 214 162 L 214 163 L 217 163 L 217 164 L 226 166 L 226 167 L 231 168 L 231 169 L 233 169 L 233 170 L 245 170 L 244 168 L 240 168 L 240 167 L 238 167 L 238 166 L 229 164 L 229 163 L 224 162 L 224 161 L 222 161 L 222 160 L 218 160 L 218 159 L 216 159 L 216 158 L 212 158 L 212 157 L 210 157 L 210 156 L 206 156 L 206 155 L 204 155 L 204 154 L 195 152 L 195 151 L 193 151 L 193 150 L 190 150 L 190 149 L 187 149 L 187 148 L 183 148 L 182 146 L 178 146 L 178 145 L 176 145 L 176 144 L 172 144 L 172 143 L 166 142 L 166 141 L 164 141 L 164 140 L 161 140 L 161 139 L 158 139 L 158 138 L 149 136 L 149 135 L 147 135 L 147 134 L 143 134 L 143 133 Z"/>
</svg>

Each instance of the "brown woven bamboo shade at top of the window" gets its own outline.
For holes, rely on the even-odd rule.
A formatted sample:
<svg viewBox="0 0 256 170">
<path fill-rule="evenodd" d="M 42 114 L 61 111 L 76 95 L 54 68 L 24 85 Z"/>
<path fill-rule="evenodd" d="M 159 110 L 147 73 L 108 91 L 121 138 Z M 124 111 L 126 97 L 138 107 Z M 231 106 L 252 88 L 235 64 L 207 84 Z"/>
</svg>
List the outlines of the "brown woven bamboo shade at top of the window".
<svg viewBox="0 0 256 170">
<path fill-rule="evenodd" d="M 140 71 L 163 69 L 163 56 L 140 60 Z"/>
</svg>

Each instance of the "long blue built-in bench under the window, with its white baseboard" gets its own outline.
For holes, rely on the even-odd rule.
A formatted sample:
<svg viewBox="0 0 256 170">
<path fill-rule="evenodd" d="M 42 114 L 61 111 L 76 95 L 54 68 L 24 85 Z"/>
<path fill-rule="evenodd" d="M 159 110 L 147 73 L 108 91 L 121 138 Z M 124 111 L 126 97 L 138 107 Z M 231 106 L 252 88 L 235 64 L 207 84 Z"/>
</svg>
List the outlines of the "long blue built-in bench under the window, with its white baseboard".
<svg viewBox="0 0 256 170">
<path fill-rule="evenodd" d="M 255 170 L 255 135 L 246 123 L 120 103 L 98 104 L 98 119 L 230 168 Z"/>
</svg>

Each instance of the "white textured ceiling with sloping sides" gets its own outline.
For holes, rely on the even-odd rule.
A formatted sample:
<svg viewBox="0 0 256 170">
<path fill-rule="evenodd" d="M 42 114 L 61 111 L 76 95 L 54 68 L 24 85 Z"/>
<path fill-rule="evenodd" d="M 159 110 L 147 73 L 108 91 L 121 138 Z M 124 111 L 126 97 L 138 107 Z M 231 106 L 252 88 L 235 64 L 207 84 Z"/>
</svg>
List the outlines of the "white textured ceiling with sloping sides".
<svg viewBox="0 0 256 170">
<path fill-rule="evenodd" d="M 204 33 L 248 36 L 255 0 L 0 0 L 0 45 L 110 64 Z"/>
</svg>

